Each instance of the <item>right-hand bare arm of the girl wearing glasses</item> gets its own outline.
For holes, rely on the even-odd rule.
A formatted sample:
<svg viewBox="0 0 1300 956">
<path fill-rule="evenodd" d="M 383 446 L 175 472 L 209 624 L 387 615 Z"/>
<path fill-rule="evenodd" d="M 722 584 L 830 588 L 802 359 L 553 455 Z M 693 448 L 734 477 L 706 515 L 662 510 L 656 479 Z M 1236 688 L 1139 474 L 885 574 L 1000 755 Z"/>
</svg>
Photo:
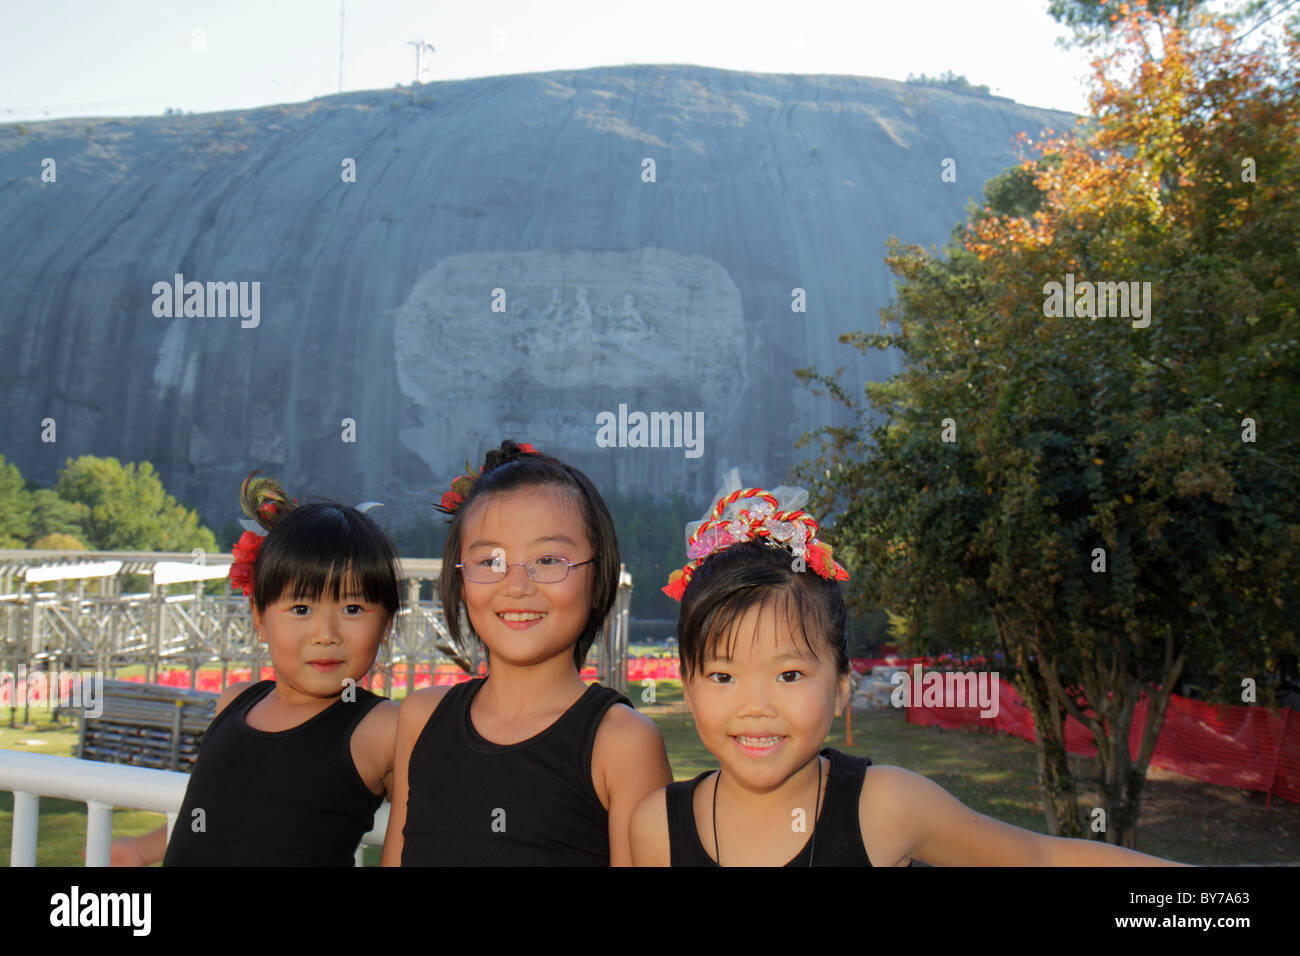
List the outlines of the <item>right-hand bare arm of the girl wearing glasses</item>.
<svg viewBox="0 0 1300 956">
<path fill-rule="evenodd" d="M 610 812 L 610 865 L 632 866 L 632 814 L 647 793 L 672 783 L 655 722 L 621 704 L 610 708 L 595 731 L 592 777 Z"/>
</svg>

